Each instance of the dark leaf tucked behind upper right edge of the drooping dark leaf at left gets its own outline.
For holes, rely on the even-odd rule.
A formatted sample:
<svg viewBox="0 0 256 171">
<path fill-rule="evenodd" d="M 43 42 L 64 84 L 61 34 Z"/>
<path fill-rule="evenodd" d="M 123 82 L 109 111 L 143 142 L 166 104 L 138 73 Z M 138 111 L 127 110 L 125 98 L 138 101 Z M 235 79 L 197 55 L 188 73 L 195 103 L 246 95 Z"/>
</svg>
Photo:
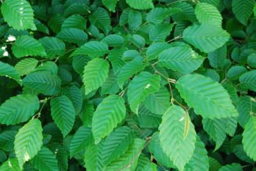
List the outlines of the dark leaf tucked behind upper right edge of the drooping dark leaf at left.
<svg viewBox="0 0 256 171">
<path fill-rule="evenodd" d="M 76 113 L 79 113 L 83 105 L 83 94 L 80 89 L 76 85 L 72 85 L 63 91 L 63 95 L 71 100 Z"/>
</svg>

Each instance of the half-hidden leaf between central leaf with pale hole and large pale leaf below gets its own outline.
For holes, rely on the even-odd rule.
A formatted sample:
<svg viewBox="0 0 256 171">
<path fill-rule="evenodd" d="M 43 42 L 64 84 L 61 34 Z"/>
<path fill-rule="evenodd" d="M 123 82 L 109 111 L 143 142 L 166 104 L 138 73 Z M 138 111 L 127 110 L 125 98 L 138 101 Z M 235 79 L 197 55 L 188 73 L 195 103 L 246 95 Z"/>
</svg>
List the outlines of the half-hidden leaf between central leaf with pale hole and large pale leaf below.
<svg viewBox="0 0 256 171">
<path fill-rule="evenodd" d="M 152 113 L 163 115 L 170 106 L 170 92 L 166 87 L 161 87 L 159 91 L 145 98 L 144 105 Z"/>
</svg>

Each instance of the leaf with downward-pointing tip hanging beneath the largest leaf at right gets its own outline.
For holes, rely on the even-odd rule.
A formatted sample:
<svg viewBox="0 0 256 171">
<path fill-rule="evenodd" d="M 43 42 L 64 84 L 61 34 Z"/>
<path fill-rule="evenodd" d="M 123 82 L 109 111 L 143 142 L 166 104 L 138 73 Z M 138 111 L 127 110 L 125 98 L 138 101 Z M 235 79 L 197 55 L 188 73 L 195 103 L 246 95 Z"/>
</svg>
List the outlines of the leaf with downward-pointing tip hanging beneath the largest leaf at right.
<svg viewBox="0 0 256 171">
<path fill-rule="evenodd" d="M 224 118 L 203 118 L 203 129 L 215 141 L 216 146 L 214 150 L 219 149 L 226 139 L 226 133 L 223 131 L 226 129 L 226 120 Z"/>
</svg>

